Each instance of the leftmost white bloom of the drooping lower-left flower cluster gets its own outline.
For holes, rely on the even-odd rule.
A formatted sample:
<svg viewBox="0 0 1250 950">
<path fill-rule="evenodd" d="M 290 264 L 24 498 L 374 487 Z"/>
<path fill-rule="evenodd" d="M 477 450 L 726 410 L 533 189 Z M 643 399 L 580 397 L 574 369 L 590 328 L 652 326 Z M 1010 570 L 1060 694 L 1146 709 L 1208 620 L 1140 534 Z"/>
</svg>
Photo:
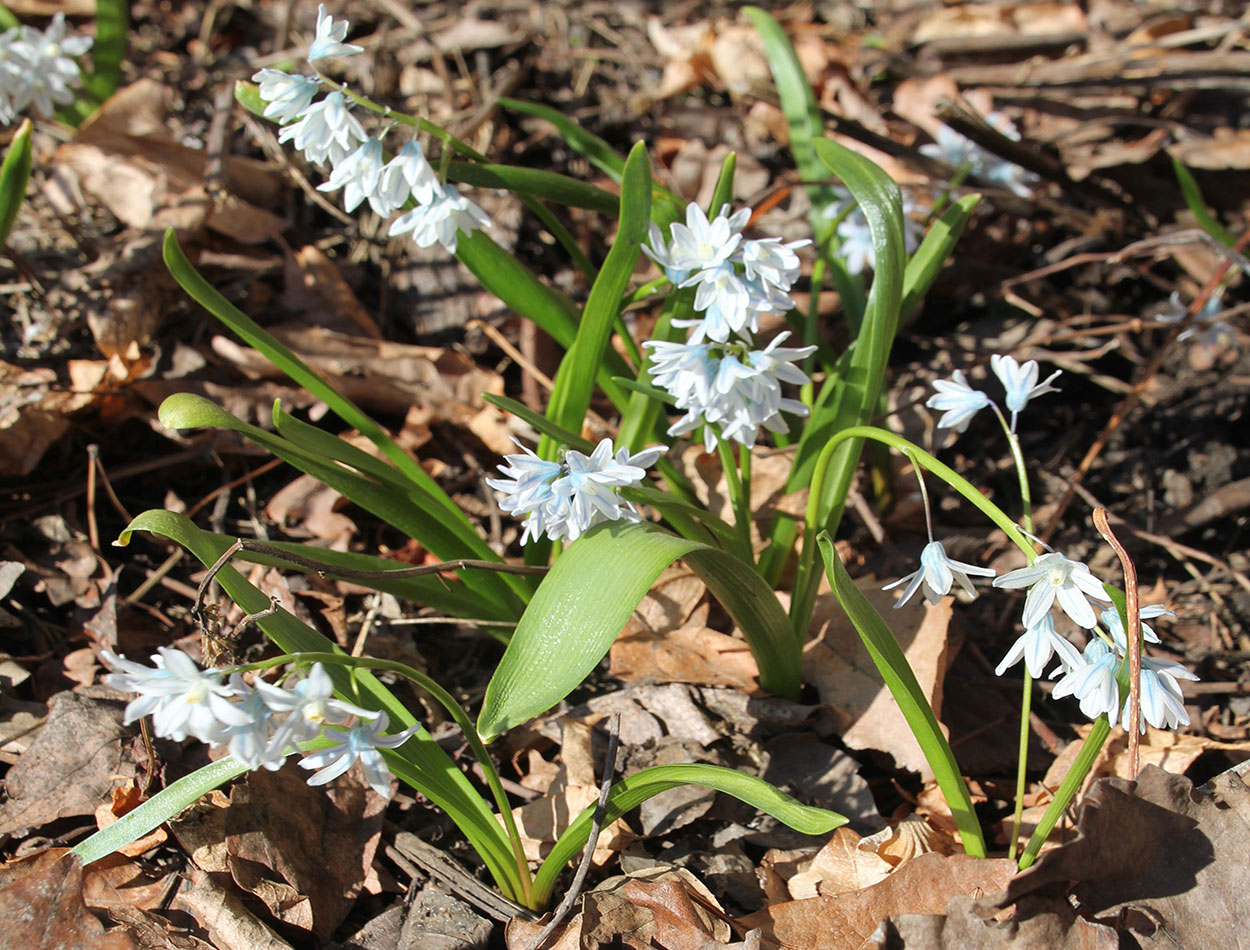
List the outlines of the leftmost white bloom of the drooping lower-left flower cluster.
<svg viewBox="0 0 1250 950">
<path fill-rule="evenodd" d="M 152 730 L 165 739 L 181 741 L 189 735 L 201 742 L 220 745 L 226 741 L 229 726 L 242 726 L 251 718 L 238 702 L 232 686 L 221 682 L 218 670 L 201 670 L 181 650 L 158 649 L 151 666 L 116 656 L 109 650 L 100 654 L 112 672 L 104 682 L 124 692 L 138 692 L 126 706 L 124 724 L 146 715 L 152 718 Z"/>
</svg>

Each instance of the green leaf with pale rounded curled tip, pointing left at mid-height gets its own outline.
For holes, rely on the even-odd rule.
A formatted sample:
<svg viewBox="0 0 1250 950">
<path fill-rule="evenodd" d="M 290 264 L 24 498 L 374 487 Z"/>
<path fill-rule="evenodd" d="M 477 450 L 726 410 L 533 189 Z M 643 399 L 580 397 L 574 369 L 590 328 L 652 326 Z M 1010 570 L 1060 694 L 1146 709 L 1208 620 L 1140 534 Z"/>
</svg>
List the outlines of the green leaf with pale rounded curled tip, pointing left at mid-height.
<svg viewBox="0 0 1250 950">
<path fill-rule="evenodd" d="M 499 560 L 499 555 L 471 526 L 444 518 L 435 500 L 415 485 L 400 491 L 390 485 L 379 484 L 325 456 L 305 451 L 279 435 L 249 425 L 215 402 L 190 392 L 169 396 L 161 404 L 158 416 L 161 425 L 170 429 L 211 428 L 239 432 L 300 471 L 329 485 L 396 530 L 416 539 L 441 560 L 456 558 Z M 494 609 L 519 612 L 520 601 L 512 590 L 504 586 L 505 579 L 506 575 L 475 571 L 464 580 L 471 590 L 490 600 Z M 516 612 L 505 616 L 511 619 Z"/>
</svg>

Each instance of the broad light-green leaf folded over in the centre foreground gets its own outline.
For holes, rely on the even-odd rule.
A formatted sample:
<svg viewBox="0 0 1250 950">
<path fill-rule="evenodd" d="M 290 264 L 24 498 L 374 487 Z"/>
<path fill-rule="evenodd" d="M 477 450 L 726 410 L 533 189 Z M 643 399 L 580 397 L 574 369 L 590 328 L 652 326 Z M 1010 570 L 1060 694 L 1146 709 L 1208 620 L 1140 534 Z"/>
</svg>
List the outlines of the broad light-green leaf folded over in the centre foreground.
<svg viewBox="0 0 1250 950">
<path fill-rule="evenodd" d="M 796 698 L 799 648 L 776 595 L 725 551 L 649 522 L 610 521 L 574 541 L 544 578 L 486 686 L 478 731 L 486 740 L 551 709 L 608 652 L 660 572 L 679 558 L 746 636 L 760 685 Z"/>
</svg>

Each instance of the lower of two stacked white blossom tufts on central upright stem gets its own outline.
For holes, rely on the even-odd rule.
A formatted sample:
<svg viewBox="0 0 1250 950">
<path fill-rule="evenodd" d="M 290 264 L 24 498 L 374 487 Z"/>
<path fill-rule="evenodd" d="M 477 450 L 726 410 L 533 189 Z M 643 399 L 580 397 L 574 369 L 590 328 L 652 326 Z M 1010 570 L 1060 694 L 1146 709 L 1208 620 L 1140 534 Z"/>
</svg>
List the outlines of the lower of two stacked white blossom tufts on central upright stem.
<svg viewBox="0 0 1250 950">
<path fill-rule="evenodd" d="M 748 448 L 755 445 L 760 426 L 772 432 L 789 431 L 782 412 L 808 415 L 808 406 L 781 396 L 781 384 L 801 385 L 808 374 L 794 365 L 815 352 L 815 346 L 782 348 L 789 332 L 762 350 L 746 344 L 666 342 L 649 340 L 651 381 L 669 392 L 685 415 L 669 428 L 669 435 L 684 435 L 704 428 L 708 451 L 716 448 L 718 434 Z M 694 338 L 691 338 L 694 339 Z"/>
</svg>

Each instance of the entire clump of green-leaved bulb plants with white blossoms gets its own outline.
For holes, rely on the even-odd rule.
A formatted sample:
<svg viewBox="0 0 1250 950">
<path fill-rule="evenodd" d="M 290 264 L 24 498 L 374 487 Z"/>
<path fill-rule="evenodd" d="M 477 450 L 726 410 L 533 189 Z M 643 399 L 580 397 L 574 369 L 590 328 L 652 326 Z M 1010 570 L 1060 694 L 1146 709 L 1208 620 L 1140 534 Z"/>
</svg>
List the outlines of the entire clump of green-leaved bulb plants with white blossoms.
<svg viewBox="0 0 1250 950">
<path fill-rule="evenodd" d="M 748 15 L 776 61 L 792 66 L 796 60 L 786 59 L 794 56 L 792 48 L 771 18 L 755 9 Z M 955 370 L 935 384 L 926 404 L 941 412 L 939 428 L 956 432 L 965 431 L 981 410 L 994 412 L 1016 464 L 1018 518 L 929 452 L 870 424 L 881 406 L 890 348 L 905 308 L 915 305 L 936 279 L 978 195 L 959 198 L 931 215 L 932 226 L 921 229 L 912 205 L 880 168 L 832 140 L 809 136 L 821 175 L 805 171 L 805 180 L 836 176 L 846 191 L 830 190 L 820 199 L 814 189 L 819 200 L 811 239 L 748 236 L 752 210 L 735 210 L 734 156 L 725 160 L 705 210 L 682 202 L 652 179 L 644 144 L 621 156 L 555 110 L 501 100 L 501 108 L 539 115 L 592 154 L 619 194 L 552 171 L 488 162 L 431 121 L 326 78 L 321 70 L 335 60 L 364 52 L 349 41 L 350 32 L 350 24 L 319 6 L 304 61 L 312 75 L 262 69 L 254 74 L 254 84 L 240 84 L 238 98 L 279 126 L 280 141 L 290 142 L 309 164 L 324 166 L 320 191 L 341 192 L 349 212 L 368 206 L 389 219 L 389 236 L 410 234 L 421 248 L 440 245 L 508 309 L 531 320 L 564 350 L 545 412 L 484 396 L 531 429 L 524 441 L 514 440 L 519 451 L 504 456 L 498 475 L 484 479 L 490 500 L 516 521 L 515 532 L 502 539 L 519 541 L 514 550 L 525 562 L 520 556 L 505 560 L 504 545 L 500 550 L 489 545 L 479 525 L 411 454 L 230 305 L 169 234 L 165 259 L 188 292 L 309 389 L 375 451 L 314 428 L 281 405 L 274 409 L 272 428 L 261 429 L 206 399 L 182 394 L 161 406 L 161 421 L 175 429 L 230 429 L 255 441 L 409 535 L 438 562 L 401 568 L 355 551 L 231 539 L 168 511 L 136 518 L 121 544 L 145 530 L 190 549 L 209 568 L 205 585 L 212 579 L 220 582 L 245 612 L 245 622 L 256 624 L 280 655 L 201 669 L 172 649 L 159 650 L 151 666 L 105 654 L 111 670 L 106 681 L 135 695 L 126 706 L 128 722 L 151 716 L 156 735 L 196 739 L 229 755 L 166 788 L 134 812 L 138 818 L 128 815 L 81 845 L 76 850 L 84 860 L 144 834 L 208 788 L 248 770 L 278 769 L 300 755 L 312 785 L 330 782 L 358 764 L 382 796 L 391 794 L 394 779 L 411 785 L 451 816 L 505 896 L 532 910 L 545 908 L 565 865 L 588 842 L 594 809 L 570 822 L 535 870 L 525 858 L 512 802 L 488 745 L 576 689 L 604 659 L 650 585 L 679 559 L 700 575 L 741 631 L 760 686 L 795 701 L 822 566 L 915 732 L 965 850 L 984 856 L 984 831 L 950 744 L 932 709 L 918 701 L 922 694 L 915 674 L 886 620 L 850 581 L 832 546 L 868 441 L 908 458 L 924 498 L 928 544 L 918 570 L 888 585 L 902 588 L 896 606 L 918 595 L 936 604 L 956 588 L 974 596 L 974 579 L 992 578 L 996 589 L 1025 591 L 1024 634 L 998 668 L 1002 675 L 1022 661 L 1025 720 L 1031 679 L 1049 675 L 1058 678 L 1052 695 L 1074 696 L 1082 712 L 1108 729 L 1129 722 L 1130 712 L 1138 711 L 1136 721 L 1160 728 L 1189 721 L 1179 680 L 1192 674 L 1184 668 L 1145 659 L 1140 680 L 1130 689 L 1128 656 L 1139 645 L 1136 638 L 1155 641 L 1154 630 L 1146 625 L 1140 632 L 1129 630 L 1129 621 L 1139 618 L 1122 612 L 1122 595 L 1082 562 L 1056 551 L 1039 552 L 1018 425 L 1028 419 L 1032 400 L 1058 391 L 1059 371 L 1041 379 L 1036 361 L 994 355 L 991 370 L 1004 390 L 998 401 Z M 984 155 L 962 148 L 962 164 L 991 176 Z M 454 181 L 490 182 L 518 194 L 585 271 L 584 304 L 552 290 L 496 245 L 489 216 Z M 1010 181 L 1025 186 L 1024 178 Z M 614 229 L 608 229 L 615 236 L 601 265 L 590 262 L 591 255 L 549 205 L 615 215 Z M 654 265 L 641 284 L 640 264 Z M 805 272 L 810 302 L 801 311 L 794 295 Z M 826 278 L 848 310 L 851 344 L 841 355 L 832 352 L 824 325 L 829 315 L 820 311 Z M 650 309 L 655 319 L 640 321 L 651 328 L 650 339 L 636 341 L 625 318 L 640 309 Z M 796 345 L 785 345 L 791 341 Z M 595 420 L 596 441 L 584 435 L 588 418 Z M 608 435 L 596 429 L 604 419 L 611 420 Z M 688 445 L 719 456 L 725 509 L 712 511 L 702 504 L 674 464 Z M 800 518 L 752 510 L 752 458 L 760 450 L 790 460 L 785 494 L 805 492 Z M 926 476 L 946 482 L 980 509 L 1020 549 L 1025 566 L 995 576 L 990 568 L 948 555 L 935 538 Z M 506 650 L 476 719 L 425 672 L 338 650 L 280 605 L 268 602 L 235 570 L 235 559 L 350 579 L 499 631 Z M 786 570 L 791 565 L 794 570 Z M 782 578 L 789 584 L 790 576 L 792 590 L 779 598 Z M 1090 631 L 1084 651 L 1058 632 L 1059 612 Z M 1168 615 L 1159 605 L 1140 611 L 1148 619 Z M 288 672 L 265 679 L 266 671 L 279 669 Z M 489 799 L 380 675 L 410 681 L 446 709 L 481 768 Z M 1140 710 L 1130 708 L 1139 694 Z M 1088 741 L 1102 739 L 1105 732 L 1101 739 L 1091 732 Z M 846 821 L 752 775 L 704 764 L 654 766 L 624 776 L 609 790 L 600 818 L 616 820 L 680 784 L 735 795 L 805 834 L 822 834 Z M 1019 791 L 1022 800 L 1022 785 Z M 1055 798 L 1056 814 L 1070 804 L 1071 794 L 1075 785 Z M 1022 862 L 1036 855 L 1048 832 L 1039 829 Z M 1014 842 L 1011 848 L 1014 854 Z"/>
</svg>

